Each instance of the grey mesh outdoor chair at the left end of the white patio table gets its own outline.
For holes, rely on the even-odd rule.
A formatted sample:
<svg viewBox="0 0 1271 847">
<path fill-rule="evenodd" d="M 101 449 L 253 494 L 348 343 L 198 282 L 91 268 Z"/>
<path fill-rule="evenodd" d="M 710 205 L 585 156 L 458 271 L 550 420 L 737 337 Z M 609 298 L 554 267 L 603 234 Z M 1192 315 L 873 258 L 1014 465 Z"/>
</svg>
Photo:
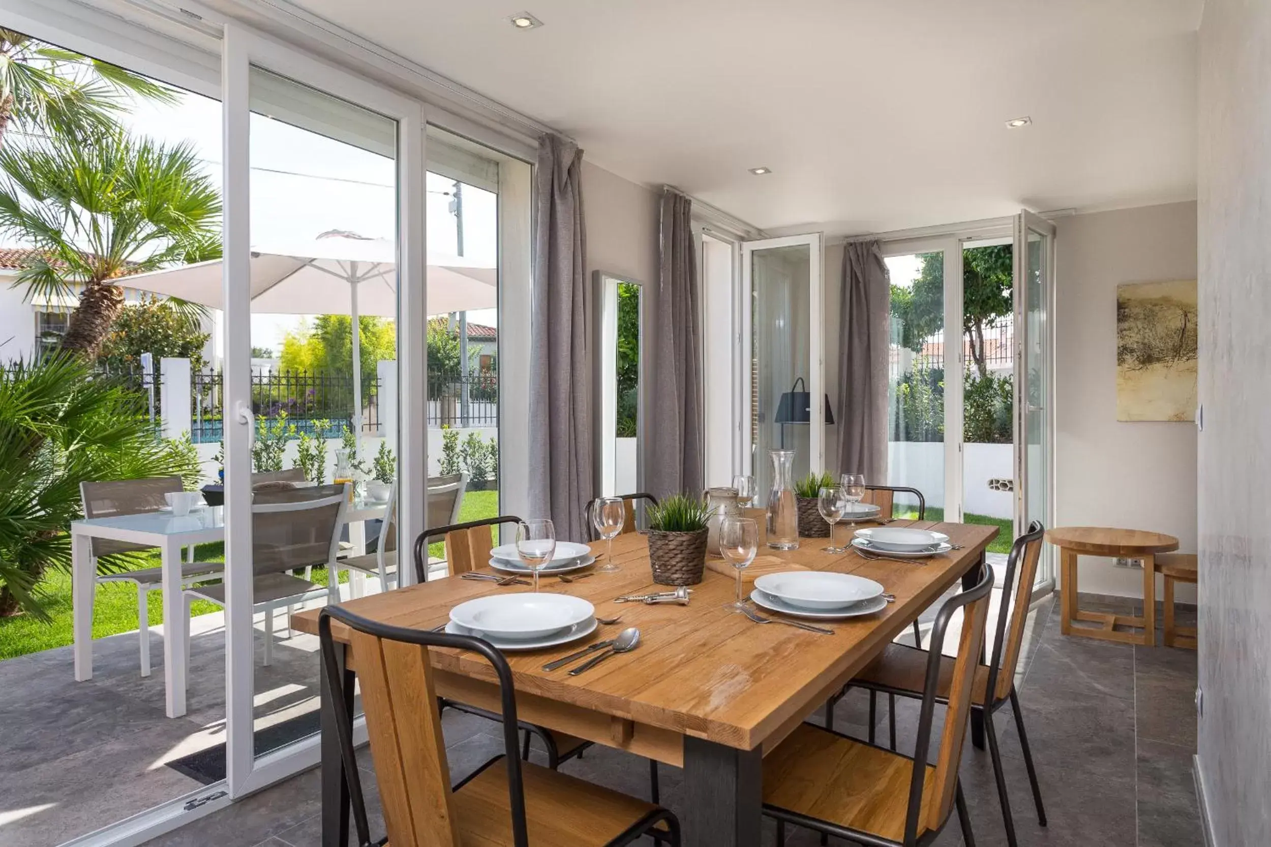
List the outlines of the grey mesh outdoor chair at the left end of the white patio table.
<svg viewBox="0 0 1271 847">
<path fill-rule="evenodd" d="M 80 483 L 80 498 L 84 502 L 85 518 L 109 518 L 121 514 L 144 514 L 158 512 L 168 505 L 165 494 L 184 490 L 179 476 L 155 476 L 139 480 L 111 480 L 105 483 Z M 109 538 L 92 538 L 89 555 L 93 556 L 93 570 L 103 556 L 127 552 L 147 552 L 156 547 Z M 194 547 L 187 550 L 187 564 L 180 566 L 183 584 L 207 579 L 220 574 L 224 564 L 205 561 L 194 564 Z M 137 635 L 141 641 L 141 676 L 150 676 L 150 608 L 147 596 L 150 589 L 163 585 L 163 568 L 142 568 L 140 570 L 121 570 L 98 574 L 99 583 L 135 583 L 137 587 Z"/>
</svg>

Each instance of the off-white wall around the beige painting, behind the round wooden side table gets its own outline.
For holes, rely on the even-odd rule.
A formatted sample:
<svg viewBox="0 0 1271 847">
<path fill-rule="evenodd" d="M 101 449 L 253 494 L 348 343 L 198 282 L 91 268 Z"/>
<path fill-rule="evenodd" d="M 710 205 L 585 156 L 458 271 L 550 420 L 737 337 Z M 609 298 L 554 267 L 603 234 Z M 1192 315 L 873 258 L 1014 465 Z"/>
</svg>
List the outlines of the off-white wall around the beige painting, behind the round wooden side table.
<svg viewBox="0 0 1271 847">
<path fill-rule="evenodd" d="M 1055 523 L 1167 532 L 1195 551 L 1196 428 L 1116 419 L 1116 290 L 1196 277 L 1196 203 L 1055 223 Z M 1143 597 L 1140 573 L 1107 559 L 1083 556 L 1079 587 Z M 1178 596 L 1195 598 L 1190 585 Z"/>
</svg>

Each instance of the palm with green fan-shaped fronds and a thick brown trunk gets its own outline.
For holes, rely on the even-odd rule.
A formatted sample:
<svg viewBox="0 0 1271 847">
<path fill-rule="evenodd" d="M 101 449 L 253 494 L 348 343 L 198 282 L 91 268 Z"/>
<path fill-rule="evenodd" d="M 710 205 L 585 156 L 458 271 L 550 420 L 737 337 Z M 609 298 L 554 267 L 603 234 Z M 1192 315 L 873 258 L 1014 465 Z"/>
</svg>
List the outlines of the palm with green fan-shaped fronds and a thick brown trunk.
<svg viewBox="0 0 1271 847">
<path fill-rule="evenodd" d="M 114 127 L 92 143 L 53 135 L 0 150 L 0 232 L 41 251 L 27 297 L 81 286 L 64 349 L 95 356 L 131 273 L 220 258 L 220 193 L 192 146 Z"/>
</svg>

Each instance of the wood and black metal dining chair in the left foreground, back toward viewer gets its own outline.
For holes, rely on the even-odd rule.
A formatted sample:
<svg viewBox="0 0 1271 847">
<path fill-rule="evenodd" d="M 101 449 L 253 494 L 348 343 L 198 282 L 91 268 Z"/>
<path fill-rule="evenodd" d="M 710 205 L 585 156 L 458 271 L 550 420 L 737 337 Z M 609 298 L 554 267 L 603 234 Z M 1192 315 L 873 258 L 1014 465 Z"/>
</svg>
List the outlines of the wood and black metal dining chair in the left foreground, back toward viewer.
<svg viewBox="0 0 1271 847">
<path fill-rule="evenodd" d="M 674 813 L 520 759 L 512 669 L 488 641 L 389 626 L 327 607 L 318 618 L 318 634 L 330 696 L 337 704 L 350 702 L 352 690 L 336 658 L 333 621 L 347 627 L 347 639 L 357 657 L 371 758 L 388 828 L 386 837 L 371 839 L 352 728 L 336 721 L 341 766 L 362 847 L 388 843 L 530 847 L 531 833 L 535 844 L 619 847 L 656 834 L 679 846 L 680 825 Z M 436 693 L 428 658 L 432 648 L 480 654 L 498 677 L 502 698 L 503 754 L 454 787 L 441 716 L 433 707 Z M 493 767 L 501 762 L 505 767 Z"/>
</svg>

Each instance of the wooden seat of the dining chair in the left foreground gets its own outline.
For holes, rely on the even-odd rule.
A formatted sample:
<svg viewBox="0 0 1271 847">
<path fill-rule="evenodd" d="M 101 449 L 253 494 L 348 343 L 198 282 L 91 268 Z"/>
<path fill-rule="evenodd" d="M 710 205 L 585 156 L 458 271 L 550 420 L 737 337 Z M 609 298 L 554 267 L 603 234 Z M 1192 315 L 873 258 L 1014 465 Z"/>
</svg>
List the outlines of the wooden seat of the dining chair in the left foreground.
<svg viewBox="0 0 1271 847">
<path fill-rule="evenodd" d="M 529 762 L 522 763 L 531 844 L 600 847 L 643 832 L 658 806 Z M 507 767 L 488 762 L 455 789 L 455 828 L 464 847 L 511 847 Z"/>
</svg>

